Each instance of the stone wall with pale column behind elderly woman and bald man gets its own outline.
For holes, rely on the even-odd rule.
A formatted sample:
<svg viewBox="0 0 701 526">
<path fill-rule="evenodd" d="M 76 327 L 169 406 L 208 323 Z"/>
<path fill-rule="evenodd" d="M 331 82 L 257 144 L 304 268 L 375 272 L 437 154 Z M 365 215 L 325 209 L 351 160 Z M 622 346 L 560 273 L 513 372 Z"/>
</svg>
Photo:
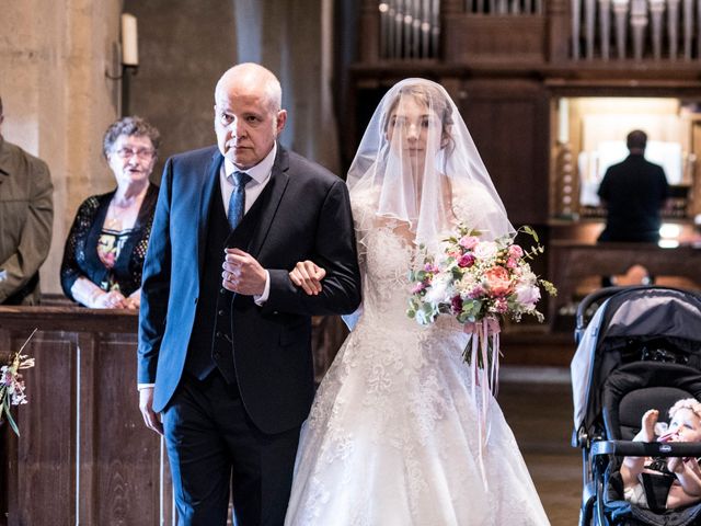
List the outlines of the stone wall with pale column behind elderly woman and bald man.
<svg viewBox="0 0 701 526">
<path fill-rule="evenodd" d="M 44 159 L 55 185 L 54 240 L 44 293 L 60 294 L 64 242 L 80 203 L 115 186 L 102 135 L 123 114 L 161 132 L 165 159 L 215 142 L 214 88 L 239 61 L 255 60 L 283 83 L 289 112 L 281 142 L 337 170 L 331 107 L 333 0 L 21 0 L 0 14 L 2 135 Z M 137 18 L 139 67 L 128 107 L 118 76 L 119 14 Z"/>
</svg>

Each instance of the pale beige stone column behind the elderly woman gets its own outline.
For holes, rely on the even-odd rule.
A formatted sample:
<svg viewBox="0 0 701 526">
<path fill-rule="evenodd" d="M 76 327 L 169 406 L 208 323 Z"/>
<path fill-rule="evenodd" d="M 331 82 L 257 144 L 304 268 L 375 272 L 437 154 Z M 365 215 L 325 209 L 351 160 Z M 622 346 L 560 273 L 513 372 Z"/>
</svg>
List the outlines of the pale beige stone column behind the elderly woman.
<svg viewBox="0 0 701 526">
<path fill-rule="evenodd" d="M 64 242 L 78 205 L 114 179 L 102 159 L 102 134 L 117 115 L 113 70 L 119 0 L 3 2 L 0 94 L 4 138 L 44 159 L 54 181 L 54 238 L 42 267 L 44 293 L 60 294 Z"/>
</svg>

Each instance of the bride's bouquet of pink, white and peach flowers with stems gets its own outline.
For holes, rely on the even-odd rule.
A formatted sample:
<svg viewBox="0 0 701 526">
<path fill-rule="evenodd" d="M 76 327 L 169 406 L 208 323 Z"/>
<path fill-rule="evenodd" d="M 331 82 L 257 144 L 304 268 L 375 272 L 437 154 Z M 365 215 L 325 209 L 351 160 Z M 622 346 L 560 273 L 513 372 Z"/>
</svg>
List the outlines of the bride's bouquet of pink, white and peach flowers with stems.
<svg viewBox="0 0 701 526">
<path fill-rule="evenodd" d="M 518 232 L 531 236 L 536 245 L 524 250 L 513 236 L 483 241 L 480 231 L 458 225 L 455 235 L 443 240 L 443 254 L 424 253 L 422 266 L 410 272 L 414 286 L 409 317 L 422 324 L 433 323 L 439 315 L 455 317 L 471 335 L 472 345 L 468 343 L 463 357 L 468 364 L 476 358 L 479 368 L 496 363 L 503 319 L 520 321 L 530 315 L 542 322 L 543 315 L 536 309 L 540 287 L 552 296 L 558 293 L 528 263 L 544 252 L 538 235 L 530 227 Z"/>
</svg>

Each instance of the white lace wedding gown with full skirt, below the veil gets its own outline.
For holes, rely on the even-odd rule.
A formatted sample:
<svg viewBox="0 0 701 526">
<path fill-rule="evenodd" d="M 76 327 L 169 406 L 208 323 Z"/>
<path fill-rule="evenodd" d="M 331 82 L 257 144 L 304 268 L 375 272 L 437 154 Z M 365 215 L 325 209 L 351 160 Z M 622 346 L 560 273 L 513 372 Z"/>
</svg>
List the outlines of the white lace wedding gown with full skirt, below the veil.
<svg viewBox="0 0 701 526">
<path fill-rule="evenodd" d="M 392 221 L 359 226 L 369 217 L 359 206 L 363 313 L 302 427 L 285 524 L 548 525 L 494 399 L 485 487 L 466 335 L 450 317 L 407 318 L 415 250 Z"/>
</svg>

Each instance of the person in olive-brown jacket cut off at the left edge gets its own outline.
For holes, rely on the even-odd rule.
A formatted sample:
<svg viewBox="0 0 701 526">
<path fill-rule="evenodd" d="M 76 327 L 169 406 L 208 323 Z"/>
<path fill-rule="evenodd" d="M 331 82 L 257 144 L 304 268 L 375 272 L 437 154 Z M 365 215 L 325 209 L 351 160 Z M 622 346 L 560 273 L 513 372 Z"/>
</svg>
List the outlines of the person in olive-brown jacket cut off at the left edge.
<svg viewBox="0 0 701 526">
<path fill-rule="evenodd" d="M 0 130 L 4 114 L 0 99 Z M 39 301 L 54 222 L 48 167 L 0 134 L 0 305 Z"/>
</svg>

